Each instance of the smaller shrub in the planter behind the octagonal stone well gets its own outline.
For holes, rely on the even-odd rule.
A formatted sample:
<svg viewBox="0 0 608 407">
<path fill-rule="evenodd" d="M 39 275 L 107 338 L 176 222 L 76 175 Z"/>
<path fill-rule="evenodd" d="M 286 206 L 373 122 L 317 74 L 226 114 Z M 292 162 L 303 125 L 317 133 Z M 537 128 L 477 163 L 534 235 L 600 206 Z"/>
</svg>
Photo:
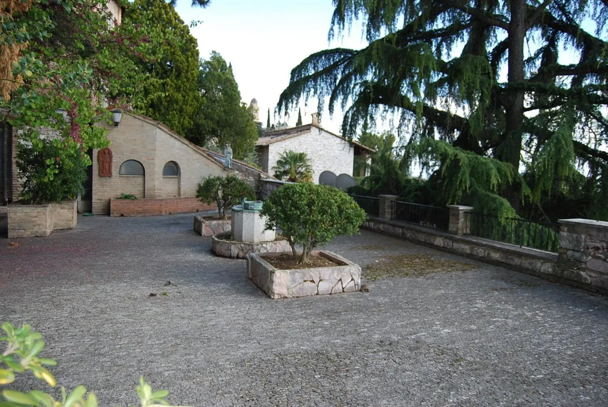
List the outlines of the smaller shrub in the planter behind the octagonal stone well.
<svg viewBox="0 0 608 407">
<path fill-rule="evenodd" d="M 226 178 L 209 176 L 198 184 L 196 198 L 207 205 L 215 201 L 218 204 L 219 218 L 226 219 L 226 209 L 238 204 L 243 198 L 254 200 L 255 190 L 243 179 L 233 175 Z"/>
</svg>

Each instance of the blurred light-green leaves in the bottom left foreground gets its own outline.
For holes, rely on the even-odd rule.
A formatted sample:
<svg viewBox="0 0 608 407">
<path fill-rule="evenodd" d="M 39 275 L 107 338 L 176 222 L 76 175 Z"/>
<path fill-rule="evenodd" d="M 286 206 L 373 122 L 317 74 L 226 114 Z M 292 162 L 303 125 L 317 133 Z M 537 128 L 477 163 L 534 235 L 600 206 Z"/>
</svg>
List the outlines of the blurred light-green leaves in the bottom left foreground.
<svg viewBox="0 0 608 407">
<path fill-rule="evenodd" d="M 33 375 L 44 380 L 49 386 L 55 387 L 56 380 L 46 367 L 55 366 L 57 362 L 52 359 L 40 358 L 38 355 L 43 351 L 45 343 L 42 335 L 32 332 L 30 325 L 21 325 L 16 328 L 10 322 L 2 324 L 2 330 L 6 333 L 0 336 L 0 342 L 6 343 L 6 349 L 0 355 L 0 385 L 10 384 L 15 381 L 15 374 L 24 373 L 28 370 Z M 167 398 L 169 392 L 166 390 L 152 391 L 150 384 L 139 380 L 137 395 L 139 395 L 141 407 L 169 406 Z M 2 391 L 5 402 L 0 401 L 3 407 L 97 407 L 97 397 L 93 392 L 88 392 L 85 386 L 77 386 L 69 394 L 66 388 L 61 386 L 61 398 L 55 398 L 44 391 L 32 390 L 24 393 L 16 390 L 5 389 Z"/>
</svg>

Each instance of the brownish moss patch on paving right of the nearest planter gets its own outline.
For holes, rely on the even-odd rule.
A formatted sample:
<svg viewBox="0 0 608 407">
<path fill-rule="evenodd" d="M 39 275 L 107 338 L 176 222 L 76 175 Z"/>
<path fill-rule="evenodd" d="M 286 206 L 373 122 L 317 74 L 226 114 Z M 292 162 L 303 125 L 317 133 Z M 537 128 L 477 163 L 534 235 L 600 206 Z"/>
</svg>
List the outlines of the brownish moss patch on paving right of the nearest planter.
<svg viewBox="0 0 608 407">
<path fill-rule="evenodd" d="M 428 254 L 400 254 L 362 267 L 362 277 L 376 280 L 385 277 L 419 277 L 432 273 L 473 270 L 477 266 L 456 260 L 438 260 Z"/>
</svg>

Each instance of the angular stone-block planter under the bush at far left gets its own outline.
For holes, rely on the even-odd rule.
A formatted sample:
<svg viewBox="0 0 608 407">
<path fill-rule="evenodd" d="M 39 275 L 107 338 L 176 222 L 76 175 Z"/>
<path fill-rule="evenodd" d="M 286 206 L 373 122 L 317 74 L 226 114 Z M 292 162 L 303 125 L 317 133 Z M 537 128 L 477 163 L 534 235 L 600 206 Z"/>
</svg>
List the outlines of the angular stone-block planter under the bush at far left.
<svg viewBox="0 0 608 407">
<path fill-rule="evenodd" d="M 9 238 L 46 237 L 58 229 L 77 225 L 77 201 L 41 205 L 9 205 Z"/>
</svg>

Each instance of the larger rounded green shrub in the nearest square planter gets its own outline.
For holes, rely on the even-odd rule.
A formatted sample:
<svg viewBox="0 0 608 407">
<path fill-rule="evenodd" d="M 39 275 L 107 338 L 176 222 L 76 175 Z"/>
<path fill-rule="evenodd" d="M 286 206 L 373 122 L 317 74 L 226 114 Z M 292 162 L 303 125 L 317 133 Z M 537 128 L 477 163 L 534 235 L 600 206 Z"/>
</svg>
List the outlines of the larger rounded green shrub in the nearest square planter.
<svg viewBox="0 0 608 407">
<path fill-rule="evenodd" d="M 337 235 L 355 234 L 365 221 L 365 211 L 346 193 L 308 183 L 275 189 L 260 215 L 266 218 L 267 230 L 282 229 L 298 263 L 307 263 L 314 248 Z M 303 246 L 299 257 L 296 243 Z"/>
</svg>

